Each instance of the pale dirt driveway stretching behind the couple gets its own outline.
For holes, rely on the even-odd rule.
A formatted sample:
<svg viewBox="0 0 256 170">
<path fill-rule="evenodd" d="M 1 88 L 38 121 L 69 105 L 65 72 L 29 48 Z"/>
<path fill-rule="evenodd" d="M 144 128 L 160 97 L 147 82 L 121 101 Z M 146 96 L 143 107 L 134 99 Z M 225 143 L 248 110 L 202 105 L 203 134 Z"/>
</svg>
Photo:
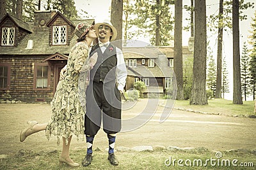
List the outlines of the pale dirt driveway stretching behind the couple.
<svg viewBox="0 0 256 170">
<path fill-rule="evenodd" d="M 151 101 L 150 101 L 151 102 Z M 147 108 L 145 108 L 147 106 Z M 141 127 L 127 132 L 120 132 L 116 138 L 116 146 L 132 148 L 140 145 L 205 147 L 209 150 L 231 150 L 239 148 L 256 148 L 256 120 L 250 118 L 234 118 L 221 115 L 203 115 L 188 111 L 173 110 L 170 116 L 159 123 L 163 107 L 142 99 L 130 109 L 122 113 L 124 120 L 131 119 L 132 124 L 141 124 L 151 111 L 156 113 Z M 151 107 L 151 108 L 150 108 Z M 141 110 L 147 110 L 141 114 Z M 140 114 L 139 114 L 140 113 Z M 142 115 L 139 118 L 134 118 Z M 20 149 L 51 150 L 61 149 L 56 139 L 47 141 L 45 132 L 38 132 L 20 143 L 19 134 L 26 127 L 28 120 L 47 122 L 51 117 L 49 104 L 0 104 L 0 154 L 16 153 Z M 138 122 L 136 122 L 138 121 Z M 129 121 L 128 121 L 129 122 Z M 144 120 L 142 122 L 145 122 Z M 126 122 L 127 123 L 127 122 Z M 72 140 L 72 148 L 84 148 L 85 141 Z M 108 139 L 100 129 L 93 143 L 94 148 L 107 148 Z"/>
</svg>

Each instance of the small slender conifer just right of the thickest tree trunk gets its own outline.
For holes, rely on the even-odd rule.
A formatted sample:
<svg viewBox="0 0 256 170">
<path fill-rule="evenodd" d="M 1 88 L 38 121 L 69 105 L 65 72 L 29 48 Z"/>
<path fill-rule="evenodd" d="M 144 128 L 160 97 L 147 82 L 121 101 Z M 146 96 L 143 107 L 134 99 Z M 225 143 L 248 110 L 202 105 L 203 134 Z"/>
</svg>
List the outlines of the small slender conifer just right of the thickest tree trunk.
<svg viewBox="0 0 256 170">
<path fill-rule="evenodd" d="M 215 96 L 216 92 L 216 64 L 212 54 L 209 54 L 209 64 L 207 68 L 207 87 L 211 89 L 213 94 L 211 97 Z"/>
</svg>

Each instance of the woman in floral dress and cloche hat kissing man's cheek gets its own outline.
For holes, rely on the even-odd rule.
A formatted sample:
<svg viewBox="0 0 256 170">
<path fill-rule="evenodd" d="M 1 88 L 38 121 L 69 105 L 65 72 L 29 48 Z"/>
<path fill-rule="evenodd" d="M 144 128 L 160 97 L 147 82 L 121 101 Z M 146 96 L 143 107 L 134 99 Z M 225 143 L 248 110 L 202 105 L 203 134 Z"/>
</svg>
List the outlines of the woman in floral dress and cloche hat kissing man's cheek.
<svg viewBox="0 0 256 170">
<path fill-rule="evenodd" d="M 92 69 L 97 61 L 97 53 L 90 55 L 89 46 L 93 39 L 97 38 L 93 26 L 88 27 L 85 23 L 77 24 L 75 34 L 79 38 L 76 45 L 70 51 L 67 62 L 65 78 L 60 80 L 56 93 L 51 102 L 52 116 L 46 124 L 38 124 L 35 121 L 28 122 L 28 127 L 20 133 L 20 141 L 24 141 L 29 135 L 45 131 L 46 137 L 57 136 L 57 143 L 60 144 L 60 137 L 63 139 L 63 148 L 60 155 L 60 163 L 76 167 L 69 157 L 69 148 L 72 135 L 84 139 L 84 113 L 79 101 L 79 73 L 83 68 L 83 76 L 88 76 L 88 71 Z M 84 74 L 86 73 L 86 74 Z M 86 87 L 85 87 L 86 88 Z M 85 97 L 85 96 L 84 96 Z"/>
</svg>

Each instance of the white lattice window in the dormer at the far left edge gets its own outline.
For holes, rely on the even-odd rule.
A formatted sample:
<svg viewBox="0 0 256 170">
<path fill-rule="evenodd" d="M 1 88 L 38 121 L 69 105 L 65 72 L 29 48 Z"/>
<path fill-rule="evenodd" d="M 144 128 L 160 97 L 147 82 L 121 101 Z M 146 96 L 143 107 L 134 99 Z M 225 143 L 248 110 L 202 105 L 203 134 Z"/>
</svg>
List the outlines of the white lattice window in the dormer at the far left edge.
<svg viewBox="0 0 256 170">
<path fill-rule="evenodd" d="M 13 46 L 15 38 L 15 28 L 14 27 L 3 27 L 2 28 L 2 42 L 3 46 Z"/>
</svg>

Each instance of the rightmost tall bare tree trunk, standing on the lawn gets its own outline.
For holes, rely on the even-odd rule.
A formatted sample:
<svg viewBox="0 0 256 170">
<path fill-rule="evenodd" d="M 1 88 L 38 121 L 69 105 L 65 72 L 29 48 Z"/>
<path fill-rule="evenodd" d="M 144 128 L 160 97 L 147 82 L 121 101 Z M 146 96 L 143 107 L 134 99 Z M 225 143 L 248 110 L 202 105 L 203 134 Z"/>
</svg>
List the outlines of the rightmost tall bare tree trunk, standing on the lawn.
<svg viewBox="0 0 256 170">
<path fill-rule="evenodd" d="M 233 27 L 233 103 L 243 104 L 241 92 L 241 70 L 239 50 L 239 0 L 232 2 L 232 27 Z"/>
</svg>

